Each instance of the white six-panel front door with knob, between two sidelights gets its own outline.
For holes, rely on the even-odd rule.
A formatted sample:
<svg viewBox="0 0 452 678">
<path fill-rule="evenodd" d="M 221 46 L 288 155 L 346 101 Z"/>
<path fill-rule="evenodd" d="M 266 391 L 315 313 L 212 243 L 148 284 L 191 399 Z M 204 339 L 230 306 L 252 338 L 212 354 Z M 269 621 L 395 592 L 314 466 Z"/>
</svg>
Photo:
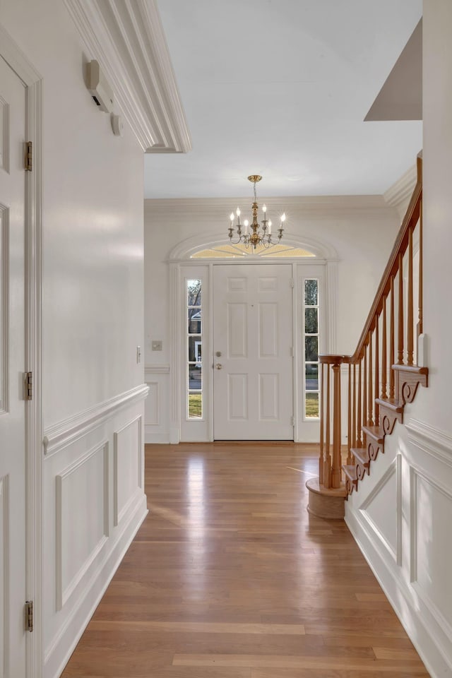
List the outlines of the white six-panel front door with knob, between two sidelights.
<svg viewBox="0 0 452 678">
<path fill-rule="evenodd" d="M 293 440 L 292 267 L 213 267 L 213 434 Z"/>
</svg>

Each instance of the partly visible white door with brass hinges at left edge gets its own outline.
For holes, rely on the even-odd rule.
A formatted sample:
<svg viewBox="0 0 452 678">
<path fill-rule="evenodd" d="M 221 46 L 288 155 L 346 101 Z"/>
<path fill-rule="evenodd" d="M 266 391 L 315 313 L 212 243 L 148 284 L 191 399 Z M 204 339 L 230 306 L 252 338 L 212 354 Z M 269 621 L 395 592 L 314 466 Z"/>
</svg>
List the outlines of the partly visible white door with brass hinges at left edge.
<svg viewBox="0 0 452 678">
<path fill-rule="evenodd" d="M 25 87 L 0 59 L 0 676 L 25 677 Z"/>
</svg>

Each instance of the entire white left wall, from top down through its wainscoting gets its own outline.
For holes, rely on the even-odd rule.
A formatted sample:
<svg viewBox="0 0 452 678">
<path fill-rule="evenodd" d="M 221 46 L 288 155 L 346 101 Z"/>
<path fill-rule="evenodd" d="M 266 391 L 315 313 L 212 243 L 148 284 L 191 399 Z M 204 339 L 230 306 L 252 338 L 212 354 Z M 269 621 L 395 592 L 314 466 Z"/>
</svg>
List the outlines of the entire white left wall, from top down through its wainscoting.
<svg viewBox="0 0 452 678">
<path fill-rule="evenodd" d="M 143 155 L 128 126 L 113 135 L 85 88 L 92 57 L 64 2 L 1 0 L 0 22 L 43 78 L 42 621 L 51 678 L 146 511 L 146 389 L 136 363 Z"/>
</svg>

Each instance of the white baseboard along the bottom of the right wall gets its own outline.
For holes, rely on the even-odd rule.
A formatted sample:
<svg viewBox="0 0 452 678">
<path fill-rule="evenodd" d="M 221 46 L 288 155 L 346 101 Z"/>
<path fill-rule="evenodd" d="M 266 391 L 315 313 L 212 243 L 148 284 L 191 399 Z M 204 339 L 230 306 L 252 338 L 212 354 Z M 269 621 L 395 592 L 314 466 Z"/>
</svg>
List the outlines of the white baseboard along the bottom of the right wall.
<svg viewBox="0 0 452 678">
<path fill-rule="evenodd" d="M 400 567 L 394 561 L 388 562 L 383 559 L 371 534 L 348 506 L 345 507 L 345 523 L 429 674 L 432 678 L 450 677 L 452 652 L 449 653 L 449 659 L 444 647 L 451 647 L 450 638 L 447 638 L 436 624 L 436 620 L 417 597 L 415 590 L 412 590 L 403 579 Z"/>
</svg>

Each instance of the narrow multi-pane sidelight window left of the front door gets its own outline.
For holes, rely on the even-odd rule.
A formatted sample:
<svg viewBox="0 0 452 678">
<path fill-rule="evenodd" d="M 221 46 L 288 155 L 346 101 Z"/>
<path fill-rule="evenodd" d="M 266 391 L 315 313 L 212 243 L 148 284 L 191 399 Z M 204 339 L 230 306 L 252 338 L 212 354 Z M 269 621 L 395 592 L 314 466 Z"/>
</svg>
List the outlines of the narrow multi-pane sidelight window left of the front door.
<svg viewBox="0 0 452 678">
<path fill-rule="evenodd" d="M 203 418 L 203 318 L 201 280 L 186 281 L 187 418 Z"/>
</svg>

